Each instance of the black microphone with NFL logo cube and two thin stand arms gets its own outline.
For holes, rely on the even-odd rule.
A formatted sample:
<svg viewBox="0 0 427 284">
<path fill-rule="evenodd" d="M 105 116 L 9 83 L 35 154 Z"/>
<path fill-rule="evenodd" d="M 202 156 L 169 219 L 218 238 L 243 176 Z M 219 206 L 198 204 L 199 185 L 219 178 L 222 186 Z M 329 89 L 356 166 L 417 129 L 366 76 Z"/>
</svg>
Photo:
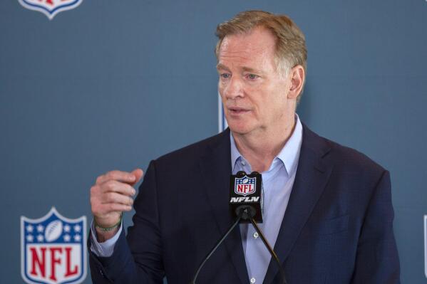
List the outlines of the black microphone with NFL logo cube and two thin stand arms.
<svg viewBox="0 0 427 284">
<path fill-rule="evenodd" d="M 240 171 L 237 172 L 237 174 L 231 175 L 229 204 L 232 215 L 237 215 L 237 219 L 215 244 L 212 250 L 207 253 L 207 256 L 202 261 L 202 263 L 200 263 L 199 268 L 197 268 L 197 271 L 190 284 L 196 283 L 197 276 L 199 275 L 200 270 L 202 270 L 203 265 L 205 265 L 206 261 L 217 250 L 220 244 L 225 241 L 227 236 L 237 226 L 238 223 L 252 223 L 255 230 L 261 237 L 264 246 L 267 247 L 267 250 L 272 255 L 272 258 L 274 261 L 276 261 L 277 265 L 279 265 L 279 272 L 282 278 L 282 283 L 287 284 L 286 278 L 284 277 L 284 270 L 282 268 L 282 264 L 279 261 L 279 258 L 277 257 L 277 254 L 274 252 L 272 246 L 270 246 L 261 229 L 257 226 L 257 223 L 262 223 L 263 193 L 262 175 L 259 174 L 259 172 L 252 172 L 251 174 L 247 174 L 246 172 Z"/>
</svg>

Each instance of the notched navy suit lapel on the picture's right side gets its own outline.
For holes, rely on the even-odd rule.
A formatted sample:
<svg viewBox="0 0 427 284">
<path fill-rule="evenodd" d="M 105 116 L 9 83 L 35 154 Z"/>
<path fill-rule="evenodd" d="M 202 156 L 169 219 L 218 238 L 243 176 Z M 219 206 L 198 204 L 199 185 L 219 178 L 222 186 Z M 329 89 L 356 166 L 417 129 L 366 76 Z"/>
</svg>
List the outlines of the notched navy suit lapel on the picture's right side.
<svg viewBox="0 0 427 284">
<path fill-rule="evenodd" d="M 282 263 L 286 261 L 300 231 L 312 214 L 331 174 L 331 166 L 322 162 L 322 157 L 329 151 L 329 147 L 321 137 L 305 125 L 303 127 L 297 174 L 274 246 L 274 251 Z M 264 283 L 272 283 L 278 271 L 277 263 L 270 261 Z"/>
</svg>

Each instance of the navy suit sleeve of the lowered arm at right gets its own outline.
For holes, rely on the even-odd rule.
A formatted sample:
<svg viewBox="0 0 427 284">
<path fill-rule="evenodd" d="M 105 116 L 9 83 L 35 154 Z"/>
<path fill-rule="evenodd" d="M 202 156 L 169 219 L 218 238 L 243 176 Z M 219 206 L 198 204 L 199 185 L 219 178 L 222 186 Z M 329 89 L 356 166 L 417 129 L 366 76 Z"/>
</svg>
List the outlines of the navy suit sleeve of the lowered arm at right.
<svg viewBox="0 0 427 284">
<path fill-rule="evenodd" d="M 390 174 L 385 171 L 376 184 L 366 211 L 351 283 L 400 283 L 393 217 Z"/>
</svg>

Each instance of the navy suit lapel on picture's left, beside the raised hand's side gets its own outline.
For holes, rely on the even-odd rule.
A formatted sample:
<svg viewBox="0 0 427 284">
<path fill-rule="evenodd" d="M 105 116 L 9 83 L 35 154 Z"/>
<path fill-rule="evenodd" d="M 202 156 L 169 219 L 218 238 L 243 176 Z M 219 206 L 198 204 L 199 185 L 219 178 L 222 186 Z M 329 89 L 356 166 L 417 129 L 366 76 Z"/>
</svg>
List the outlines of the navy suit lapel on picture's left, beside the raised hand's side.
<svg viewBox="0 0 427 284">
<path fill-rule="evenodd" d="M 234 223 L 234 218 L 230 214 L 228 204 L 230 196 L 230 174 L 232 173 L 230 162 L 230 130 L 222 132 L 215 139 L 217 140 L 212 141 L 202 156 L 200 169 L 203 181 L 205 182 L 207 199 L 215 215 L 217 227 L 222 235 Z M 241 283 L 249 283 L 239 226 L 227 237 L 225 246 Z"/>
</svg>

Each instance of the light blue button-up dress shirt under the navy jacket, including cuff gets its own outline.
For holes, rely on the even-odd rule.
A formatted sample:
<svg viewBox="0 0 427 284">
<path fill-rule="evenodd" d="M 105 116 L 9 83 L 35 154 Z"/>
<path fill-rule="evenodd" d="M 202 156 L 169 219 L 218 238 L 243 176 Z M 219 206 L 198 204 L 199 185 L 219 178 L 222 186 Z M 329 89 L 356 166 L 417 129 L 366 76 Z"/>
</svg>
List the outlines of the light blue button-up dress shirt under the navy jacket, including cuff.
<svg viewBox="0 0 427 284">
<path fill-rule="evenodd" d="M 297 172 L 299 152 L 302 143 L 302 125 L 298 115 L 295 115 L 296 125 L 291 137 L 279 152 L 277 157 L 266 172 L 262 172 L 262 183 L 264 186 L 264 211 L 263 223 L 259 224 L 264 236 L 274 247 L 279 228 L 282 224 L 284 211 L 286 211 L 289 195 Z M 250 164 L 247 162 L 236 147 L 235 140 L 230 132 L 231 142 L 231 165 L 232 172 L 239 171 L 252 172 Z M 122 225 L 123 226 L 123 225 Z M 96 256 L 108 257 L 113 254 L 114 245 L 120 236 L 123 227 L 120 226 L 118 233 L 104 243 L 96 240 L 96 230 L 91 224 L 91 251 Z M 251 283 L 262 283 L 270 261 L 270 254 L 261 238 L 258 236 L 252 224 L 241 224 L 240 233 L 242 235 L 243 252 L 247 272 Z"/>
</svg>

